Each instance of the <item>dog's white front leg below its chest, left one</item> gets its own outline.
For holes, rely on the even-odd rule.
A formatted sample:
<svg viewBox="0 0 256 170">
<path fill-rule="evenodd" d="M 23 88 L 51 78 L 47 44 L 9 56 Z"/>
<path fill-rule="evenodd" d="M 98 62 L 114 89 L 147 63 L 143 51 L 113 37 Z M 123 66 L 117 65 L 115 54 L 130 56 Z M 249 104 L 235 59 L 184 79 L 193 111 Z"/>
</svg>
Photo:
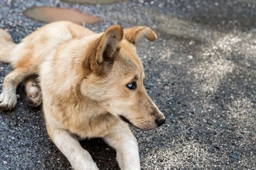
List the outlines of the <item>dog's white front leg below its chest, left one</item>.
<svg viewBox="0 0 256 170">
<path fill-rule="evenodd" d="M 98 169 L 93 162 L 90 153 L 82 148 L 77 137 L 74 134 L 64 130 L 49 127 L 47 132 L 55 145 L 67 157 L 72 168 L 75 170 L 96 170 Z"/>
</svg>

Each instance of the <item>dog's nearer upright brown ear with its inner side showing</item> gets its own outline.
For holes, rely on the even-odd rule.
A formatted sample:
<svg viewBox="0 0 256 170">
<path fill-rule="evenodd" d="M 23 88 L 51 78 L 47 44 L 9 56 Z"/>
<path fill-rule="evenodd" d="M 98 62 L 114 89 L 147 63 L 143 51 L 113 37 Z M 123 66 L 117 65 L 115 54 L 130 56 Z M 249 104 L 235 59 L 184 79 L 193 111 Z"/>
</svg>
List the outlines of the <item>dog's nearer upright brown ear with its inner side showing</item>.
<svg viewBox="0 0 256 170">
<path fill-rule="evenodd" d="M 99 72 L 104 60 L 111 60 L 120 48 L 118 44 L 123 39 L 123 28 L 120 25 L 112 25 L 100 37 L 95 57 L 90 61 L 92 71 Z"/>
</svg>

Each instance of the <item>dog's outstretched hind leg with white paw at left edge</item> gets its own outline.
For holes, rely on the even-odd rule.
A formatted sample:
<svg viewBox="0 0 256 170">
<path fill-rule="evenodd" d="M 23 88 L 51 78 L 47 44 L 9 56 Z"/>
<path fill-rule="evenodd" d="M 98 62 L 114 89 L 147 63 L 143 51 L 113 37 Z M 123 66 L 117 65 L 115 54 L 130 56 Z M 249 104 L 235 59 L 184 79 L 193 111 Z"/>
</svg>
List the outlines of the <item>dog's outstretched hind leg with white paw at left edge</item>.
<svg viewBox="0 0 256 170">
<path fill-rule="evenodd" d="M 16 89 L 24 78 L 29 76 L 28 67 L 17 67 L 4 78 L 3 90 L 0 95 L 0 108 L 12 110 L 17 104 Z"/>
</svg>

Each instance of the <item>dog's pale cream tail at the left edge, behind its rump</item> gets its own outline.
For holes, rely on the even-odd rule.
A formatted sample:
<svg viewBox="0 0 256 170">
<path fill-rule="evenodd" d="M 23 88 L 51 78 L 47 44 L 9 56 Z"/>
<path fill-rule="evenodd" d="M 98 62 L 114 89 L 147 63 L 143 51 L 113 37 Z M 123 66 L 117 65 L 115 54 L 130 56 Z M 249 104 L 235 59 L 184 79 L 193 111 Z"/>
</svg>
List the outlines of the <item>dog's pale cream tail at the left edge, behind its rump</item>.
<svg viewBox="0 0 256 170">
<path fill-rule="evenodd" d="M 15 46 L 16 44 L 12 41 L 10 34 L 0 29 L 0 62 L 13 62 L 10 55 Z"/>
</svg>

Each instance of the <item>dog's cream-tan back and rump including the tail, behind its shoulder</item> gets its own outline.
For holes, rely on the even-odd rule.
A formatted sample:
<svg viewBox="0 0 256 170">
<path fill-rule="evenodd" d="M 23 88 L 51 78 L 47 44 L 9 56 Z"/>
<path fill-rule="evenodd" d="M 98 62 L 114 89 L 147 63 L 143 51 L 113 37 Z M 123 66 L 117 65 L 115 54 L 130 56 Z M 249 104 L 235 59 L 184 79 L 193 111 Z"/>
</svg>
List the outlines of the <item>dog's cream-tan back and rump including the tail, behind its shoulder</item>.
<svg viewBox="0 0 256 170">
<path fill-rule="evenodd" d="M 38 71 L 47 53 L 64 41 L 95 34 L 72 22 L 53 22 L 29 34 L 22 42 L 15 44 L 8 32 L 0 29 L 0 61 L 15 67 L 31 67 Z"/>
</svg>

